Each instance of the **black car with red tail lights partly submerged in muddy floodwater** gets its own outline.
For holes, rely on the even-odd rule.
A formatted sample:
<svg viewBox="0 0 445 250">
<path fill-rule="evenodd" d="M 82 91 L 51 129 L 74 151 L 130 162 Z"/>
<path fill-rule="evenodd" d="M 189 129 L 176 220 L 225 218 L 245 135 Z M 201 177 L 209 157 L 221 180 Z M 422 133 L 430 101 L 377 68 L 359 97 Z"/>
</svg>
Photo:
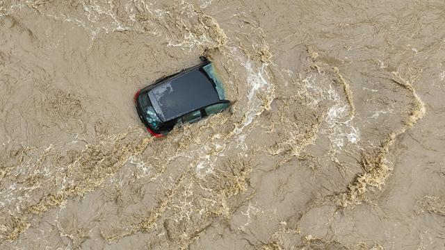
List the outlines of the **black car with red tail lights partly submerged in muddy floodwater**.
<svg viewBox="0 0 445 250">
<path fill-rule="evenodd" d="M 223 83 L 212 63 L 204 56 L 200 60 L 199 65 L 165 76 L 136 92 L 134 102 L 140 120 L 155 137 L 231 105 L 225 100 Z"/>
</svg>

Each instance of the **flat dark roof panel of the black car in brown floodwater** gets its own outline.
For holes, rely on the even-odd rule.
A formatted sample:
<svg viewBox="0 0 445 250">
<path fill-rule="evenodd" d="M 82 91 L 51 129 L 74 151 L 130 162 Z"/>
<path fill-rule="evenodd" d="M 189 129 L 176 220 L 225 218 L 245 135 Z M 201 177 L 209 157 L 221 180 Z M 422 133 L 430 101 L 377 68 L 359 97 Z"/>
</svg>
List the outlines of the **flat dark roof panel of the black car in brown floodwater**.
<svg viewBox="0 0 445 250">
<path fill-rule="evenodd" d="M 202 66 L 169 78 L 148 94 L 163 122 L 220 101 L 218 92 Z"/>
</svg>

